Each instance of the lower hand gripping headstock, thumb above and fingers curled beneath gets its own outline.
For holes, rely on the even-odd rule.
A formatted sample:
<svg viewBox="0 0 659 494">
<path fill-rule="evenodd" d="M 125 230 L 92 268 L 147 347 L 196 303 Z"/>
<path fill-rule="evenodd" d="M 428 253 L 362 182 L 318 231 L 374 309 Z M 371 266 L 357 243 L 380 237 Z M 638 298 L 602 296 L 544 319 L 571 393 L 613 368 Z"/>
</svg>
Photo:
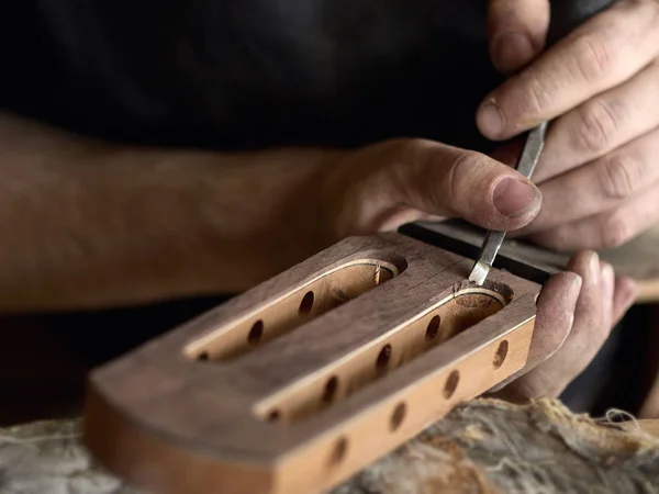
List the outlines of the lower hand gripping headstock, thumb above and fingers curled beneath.
<svg viewBox="0 0 659 494">
<path fill-rule="evenodd" d="M 540 206 L 533 189 L 522 186 L 526 179 L 477 153 L 399 139 L 339 156 L 327 167 L 323 194 L 331 201 L 328 211 L 339 236 L 373 234 L 437 216 L 459 216 L 488 228 L 518 228 Z M 498 195 L 498 186 L 507 179 L 518 189 L 509 186 L 505 195 Z M 615 279 L 613 268 L 594 252 L 577 254 L 566 272 L 543 287 L 528 363 L 499 395 L 516 401 L 558 395 L 596 355 L 634 299 L 630 279 Z"/>
</svg>

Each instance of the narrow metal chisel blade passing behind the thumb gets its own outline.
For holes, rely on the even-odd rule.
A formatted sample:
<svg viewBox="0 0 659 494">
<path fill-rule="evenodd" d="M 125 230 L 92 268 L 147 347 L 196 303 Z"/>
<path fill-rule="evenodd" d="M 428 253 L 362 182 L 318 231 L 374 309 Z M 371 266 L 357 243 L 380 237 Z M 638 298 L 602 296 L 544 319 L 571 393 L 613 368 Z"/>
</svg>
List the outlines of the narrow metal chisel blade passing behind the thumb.
<svg viewBox="0 0 659 494">
<path fill-rule="evenodd" d="M 530 178 L 533 171 L 538 164 L 540 153 L 545 145 L 545 134 L 547 133 L 547 122 L 543 122 L 537 127 L 529 131 L 526 136 L 526 143 L 517 160 L 515 169 L 526 178 Z M 490 273 L 490 269 L 494 265 L 496 254 L 503 244 L 505 232 L 489 231 L 483 240 L 478 260 L 471 269 L 469 281 L 482 285 Z"/>
</svg>

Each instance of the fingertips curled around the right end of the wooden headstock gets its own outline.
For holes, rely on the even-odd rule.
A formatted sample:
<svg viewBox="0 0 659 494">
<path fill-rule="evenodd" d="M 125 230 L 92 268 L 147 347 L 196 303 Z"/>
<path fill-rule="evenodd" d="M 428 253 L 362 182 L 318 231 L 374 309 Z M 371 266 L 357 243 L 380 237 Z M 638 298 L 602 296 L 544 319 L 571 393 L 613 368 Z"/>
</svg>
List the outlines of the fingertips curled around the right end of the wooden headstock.
<svg viewBox="0 0 659 494">
<path fill-rule="evenodd" d="M 543 287 L 526 366 L 491 390 L 492 396 L 512 402 L 559 396 L 595 358 L 635 295 L 634 282 L 615 279 L 595 252 L 574 255 L 568 271 Z"/>
</svg>

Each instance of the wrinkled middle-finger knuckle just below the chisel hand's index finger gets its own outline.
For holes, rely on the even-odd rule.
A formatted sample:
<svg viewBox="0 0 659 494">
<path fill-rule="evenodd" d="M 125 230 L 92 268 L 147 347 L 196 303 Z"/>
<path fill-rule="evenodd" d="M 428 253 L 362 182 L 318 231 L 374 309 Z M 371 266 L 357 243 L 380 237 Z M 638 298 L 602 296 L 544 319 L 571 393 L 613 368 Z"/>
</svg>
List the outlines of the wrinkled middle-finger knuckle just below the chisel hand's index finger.
<svg viewBox="0 0 659 494">
<path fill-rule="evenodd" d="M 618 130 L 618 117 L 611 106 L 597 99 L 580 106 L 577 114 L 579 125 L 570 134 L 574 148 L 592 154 L 606 149 Z"/>
</svg>

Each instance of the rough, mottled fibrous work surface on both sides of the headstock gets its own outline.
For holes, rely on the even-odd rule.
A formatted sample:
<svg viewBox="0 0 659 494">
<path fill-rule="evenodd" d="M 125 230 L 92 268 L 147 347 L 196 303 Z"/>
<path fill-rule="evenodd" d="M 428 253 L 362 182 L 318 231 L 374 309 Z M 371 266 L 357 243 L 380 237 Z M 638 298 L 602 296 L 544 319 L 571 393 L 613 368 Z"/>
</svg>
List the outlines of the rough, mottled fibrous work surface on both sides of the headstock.
<svg viewBox="0 0 659 494">
<path fill-rule="evenodd" d="M 474 401 L 332 494 L 659 492 L 659 439 L 560 403 Z M 137 494 L 98 468 L 78 420 L 0 429 L 2 494 Z"/>
</svg>

